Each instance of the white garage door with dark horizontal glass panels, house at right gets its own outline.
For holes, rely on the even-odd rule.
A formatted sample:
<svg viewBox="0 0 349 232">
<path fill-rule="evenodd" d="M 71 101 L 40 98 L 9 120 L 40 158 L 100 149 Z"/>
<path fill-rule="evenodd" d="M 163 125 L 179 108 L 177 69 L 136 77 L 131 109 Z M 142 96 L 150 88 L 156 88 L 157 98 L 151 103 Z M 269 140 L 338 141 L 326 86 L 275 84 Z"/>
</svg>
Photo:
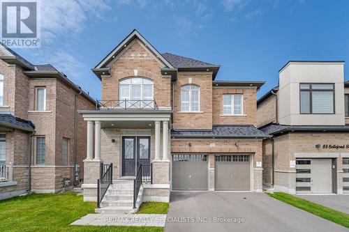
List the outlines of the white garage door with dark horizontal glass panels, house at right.
<svg viewBox="0 0 349 232">
<path fill-rule="evenodd" d="M 332 193 L 331 159 L 296 160 L 297 193 Z"/>
</svg>

